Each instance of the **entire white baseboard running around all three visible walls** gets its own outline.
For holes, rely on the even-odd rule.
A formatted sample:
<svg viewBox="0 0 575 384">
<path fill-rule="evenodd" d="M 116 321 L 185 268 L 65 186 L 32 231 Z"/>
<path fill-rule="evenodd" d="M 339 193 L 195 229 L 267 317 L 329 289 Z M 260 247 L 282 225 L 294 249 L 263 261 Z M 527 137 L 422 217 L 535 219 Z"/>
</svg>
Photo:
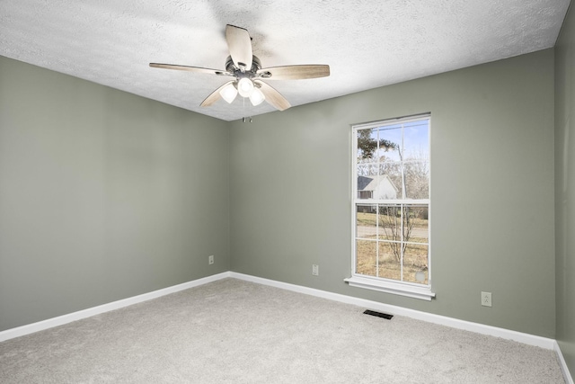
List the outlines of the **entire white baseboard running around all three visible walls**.
<svg viewBox="0 0 575 384">
<path fill-rule="evenodd" d="M 258 284 L 269 285 L 271 287 L 276 287 L 283 290 L 292 290 L 298 293 L 304 293 L 306 295 L 311 295 L 323 299 L 331 299 L 334 301 L 339 301 L 341 303 L 352 304 L 359 307 L 365 307 L 370 309 L 376 309 L 378 311 L 387 312 L 392 315 L 411 317 L 429 323 L 438 324 L 441 326 L 450 326 L 452 328 L 463 329 L 477 334 L 501 337 L 503 339 L 513 340 L 519 343 L 535 345 L 541 348 L 553 350 L 555 351 L 555 353 L 557 353 L 563 371 L 563 376 L 565 377 L 567 384 L 575 384 L 571 377 L 570 371 L 567 367 L 567 363 L 563 358 L 559 344 L 557 344 L 555 340 L 550 338 L 524 334 L 509 329 L 498 328 L 496 326 L 485 326 L 483 324 L 473 323 L 471 321 L 464 321 L 452 317 L 434 315 L 414 309 L 397 307 L 367 299 L 358 299 L 351 296 L 341 295 L 339 293 L 328 292 L 326 290 L 316 290 L 314 288 L 290 284 L 288 282 L 264 279 L 261 277 L 256 277 L 238 272 L 222 272 L 202 279 L 188 281 L 182 284 L 174 285 L 172 287 L 167 287 L 162 290 L 154 290 L 152 292 L 137 295 L 132 298 L 121 299 L 118 301 L 113 301 L 108 304 L 103 304 L 98 307 L 87 308 L 67 315 L 49 318 L 47 320 L 39 321 L 37 323 L 32 323 L 26 326 L 18 326 L 16 328 L 7 329 L 5 331 L 0 332 L 0 342 L 13 339 L 14 337 L 19 337 L 22 335 L 29 335 L 34 332 L 52 328 L 54 326 L 62 326 L 72 321 L 80 320 L 86 317 L 92 317 L 114 309 L 128 307 L 130 305 L 137 304 L 142 301 L 156 299 L 165 295 L 169 295 L 171 293 L 178 292 L 180 290 L 188 290 L 190 288 L 198 287 L 200 285 L 207 284 L 208 282 L 225 279 L 227 277 L 232 277 L 234 279 L 239 279 L 243 281 L 252 281 Z"/>
</svg>

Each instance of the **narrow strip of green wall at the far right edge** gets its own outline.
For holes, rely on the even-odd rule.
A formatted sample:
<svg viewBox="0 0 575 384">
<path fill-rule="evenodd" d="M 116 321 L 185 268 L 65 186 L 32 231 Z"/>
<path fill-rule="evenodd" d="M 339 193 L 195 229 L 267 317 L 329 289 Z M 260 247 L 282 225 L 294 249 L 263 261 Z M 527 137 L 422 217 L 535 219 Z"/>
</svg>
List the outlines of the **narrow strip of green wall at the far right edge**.
<svg viewBox="0 0 575 384">
<path fill-rule="evenodd" d="M 556 338 L 575 374 L 575 12 L 555 46 Z"/>
</svg>

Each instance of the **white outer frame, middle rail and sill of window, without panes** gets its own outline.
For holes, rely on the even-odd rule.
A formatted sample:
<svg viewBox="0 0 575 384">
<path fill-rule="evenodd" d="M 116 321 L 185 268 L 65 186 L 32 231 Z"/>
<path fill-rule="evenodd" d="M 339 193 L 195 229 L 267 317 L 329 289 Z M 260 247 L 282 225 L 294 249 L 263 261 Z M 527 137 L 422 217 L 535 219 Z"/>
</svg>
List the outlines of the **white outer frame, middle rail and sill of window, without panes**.
<svg viewBox="0 0 575 384">
<path fill-rule="evenodd" d="M 430 132 L 431 132 L 431 113 L 423 113 L 419 115 L 412 115 L 396 119 L 387 119 L 382 121 L 373 121 L 368 123 L 354 124 L 351 126 L 351 140 L 352 140 L 352 154 L 351 154 L 351 277 L 345 279 L 349 286 L 364 288 L 367 290 L 378 290 L 385 293 L 392 293 L 395 295 L 407 296 L 414 299 L 431 300 L 435 297 L 435 293 L 431 291 L 431 203 L 429 199 L 412 200 L 412 199 L 396 199 L 393 203 L 396 204 L 427 204 L 428 205 L 428 284 L 417 284 L 409 281 L 396 281 L 382 277 L 367 276 L 365 274 L 356 273 L 357 255 L 356 255 L 356 240 L 357 240 L 357 212 L 358 205 L 368 204 L 385 204 L 390 203 L 388 200 L 360 200 L 358 198 L 358 167 L 357 167 L 357 147 L 358 147 L 358 130 L 378 128 L 385 125 L 394 125 L 397 123 L 419 121 L 427 119 L 429 121 L 428 142 L 430 149 Z M 354 152 L 355 151 L 355 152 Z M 429 163 L 430 166 L 430 163 Z M 431 180 L 429 174 L 429 193 L 431 191 Z M 403 267 L 403 266 L 402 266 Z"/>
</svg>

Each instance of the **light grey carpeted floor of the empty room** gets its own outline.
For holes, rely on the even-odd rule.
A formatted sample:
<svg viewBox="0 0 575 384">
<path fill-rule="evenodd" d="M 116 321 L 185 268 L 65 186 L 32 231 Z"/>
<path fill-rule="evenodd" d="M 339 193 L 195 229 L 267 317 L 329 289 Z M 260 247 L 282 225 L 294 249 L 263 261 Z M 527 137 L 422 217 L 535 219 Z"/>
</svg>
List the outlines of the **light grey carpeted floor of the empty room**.
<svg viewBox="0 0 575 384">
<path fill-rule="evenodd" d="M 1 383 L 564 383 L 553 351 L 235 279 L 0 343 Z"/>
</svg>

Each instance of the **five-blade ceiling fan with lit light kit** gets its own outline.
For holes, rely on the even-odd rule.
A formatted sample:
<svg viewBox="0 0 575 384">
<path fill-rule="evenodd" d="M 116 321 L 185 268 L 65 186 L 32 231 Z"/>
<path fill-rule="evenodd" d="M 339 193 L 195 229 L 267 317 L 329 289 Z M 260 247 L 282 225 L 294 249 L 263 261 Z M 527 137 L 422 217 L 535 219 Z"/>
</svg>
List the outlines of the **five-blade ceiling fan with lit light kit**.
<svg viewBox="0 0 575 384">
<path fill-rule="evenodd" d="M 181 71 L 198 72 L 217 76 L 230 76 L 234 80 L 217 88 L 209 94 L 201 104 L 208 107 L 223 98 L 227 103 L 234 102 L 237 94 L 247 97 L 250 102 L 259 105 L 266 102 L 279 111 L 288 109 L 291 105 L 279 92 L 263 81 L 265 80 L 296 80 L 330 76 L 330 66 L 298 65 L 262 68 L 259 58 L 252 53 L 252 38 L 247 30 L 226 25 L 226 41 L 230 56 L 226 59 L 226 70 L 202 67 L 179 66 L 175 64 L 150 63 L 150 67 L 177 69 Z"/>
</svg>

